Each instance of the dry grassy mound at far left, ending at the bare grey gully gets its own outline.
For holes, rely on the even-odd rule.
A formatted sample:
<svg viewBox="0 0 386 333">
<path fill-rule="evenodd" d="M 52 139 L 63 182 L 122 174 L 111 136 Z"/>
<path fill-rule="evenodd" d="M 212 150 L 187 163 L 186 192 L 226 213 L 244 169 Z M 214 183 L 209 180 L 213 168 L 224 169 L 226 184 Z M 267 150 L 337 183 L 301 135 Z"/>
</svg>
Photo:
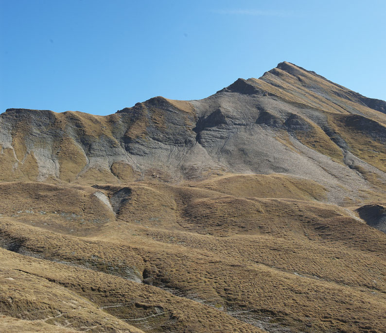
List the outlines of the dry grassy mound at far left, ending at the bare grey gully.
<svg viewBox="0 0 386 333">
<path fill-rule="evenodd" d="M 83 235 L 115 219 L 95 192 L 73 185 L 0 183 L 1 214 L 41 228 Z"/>
</svg>

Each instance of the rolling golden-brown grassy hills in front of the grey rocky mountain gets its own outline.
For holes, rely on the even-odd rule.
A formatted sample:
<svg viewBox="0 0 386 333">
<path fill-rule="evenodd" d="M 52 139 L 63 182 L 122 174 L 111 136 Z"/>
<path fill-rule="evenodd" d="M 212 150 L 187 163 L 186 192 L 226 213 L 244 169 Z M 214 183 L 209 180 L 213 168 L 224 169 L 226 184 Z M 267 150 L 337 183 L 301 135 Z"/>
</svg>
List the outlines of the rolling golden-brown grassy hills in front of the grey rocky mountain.
<svg viewBox="0 0 386 333">
<path fill-rule="evenodd" d="M 13 206 L 0 217 L 1 245 L 24 256 L 1 251 L 4 277 L 16 274 L 19 287 L 11 295 L 17 305 L 3 302 L 0 312 L 47 319 L 68 313 L 72 301 L 62 301 L 71 297 L 88 303 L 46 323 L 70 322 L 66 327 L 79 329 L 87 317 L 88 327 L 95 326 L 92 331 L 107 332 L 103 318 L 110 315 L 127 332 L 134 327 L 259 332 L 256 325 L 272 332 L 278 327 L 382 332 L 386 235 L 347 210 L 316 202 L 323 189 L 312 185 L 282 175 L 225 176 L 193 187 L 25 183 L 24 193 L 17 191 L 20 183 L 2 184 L 3 200 Z M 287 198 L 272 198 L 278 196 L 278 186 L 286 186 Z M 103 208 L 98 216 L 105 223 L 87 227 L 83 234 L 70 231 L 82 228 L 80 216 L 58 219 L 53 226 L 40 221 L 59 209 L 80 209 L 90 219 L 97 207 L 88 201 L 90 193 L 102 191 L 113 201 L 123 189 L 130 191 L 116 219 Z M 52 195 L 62 192 L 70 194 Z M 49 209 L 43 215 L 26 213 L 28 218 L 15 214 L 13 210 L 25 212 L 26 202 L 28 210 Z M 148 209 L 150 204 L 154 209 Z M 31 279 L 32 294 L 23 291 Z M 55 296 L 40 298 L 48 287 Z M 1 295 L 8 299 L 10 289 Z M 124 328 L 127 323 L 133 328 Z"/>
</svg>

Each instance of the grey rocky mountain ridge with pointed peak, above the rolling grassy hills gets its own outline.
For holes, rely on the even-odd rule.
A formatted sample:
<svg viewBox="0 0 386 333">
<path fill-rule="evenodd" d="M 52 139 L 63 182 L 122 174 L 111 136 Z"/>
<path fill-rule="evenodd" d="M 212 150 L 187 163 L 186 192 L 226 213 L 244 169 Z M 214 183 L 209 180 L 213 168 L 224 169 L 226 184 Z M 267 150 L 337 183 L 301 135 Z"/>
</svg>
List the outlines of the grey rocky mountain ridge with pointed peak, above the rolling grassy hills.
<svg viewBox="0 0 386 333">
<path fill-rule="evenodd" d="M 374 185 L 369 174 L 386 180 L 385 105 L 283 62 L 203 100 L 155 97 L 105 117 L 8 109 L 0 116 L 0 180 L 285 173 L 316 180 L 338 200 L 337 187 L 351 197 Z"/>
</svg>

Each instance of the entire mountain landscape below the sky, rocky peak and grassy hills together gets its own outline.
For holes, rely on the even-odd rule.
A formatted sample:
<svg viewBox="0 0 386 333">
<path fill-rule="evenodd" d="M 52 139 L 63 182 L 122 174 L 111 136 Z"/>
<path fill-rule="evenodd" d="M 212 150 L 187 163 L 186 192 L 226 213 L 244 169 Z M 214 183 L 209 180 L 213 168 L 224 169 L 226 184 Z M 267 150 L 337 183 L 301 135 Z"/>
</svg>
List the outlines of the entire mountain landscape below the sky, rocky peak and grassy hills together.
<svg viewBox="0 0 386 333">
<path fill-rule="evenodd" d="M 283 62 L 203 100 L 0 115 L 2 332 L 385 332 L 386 102 Z"/>
</svg>

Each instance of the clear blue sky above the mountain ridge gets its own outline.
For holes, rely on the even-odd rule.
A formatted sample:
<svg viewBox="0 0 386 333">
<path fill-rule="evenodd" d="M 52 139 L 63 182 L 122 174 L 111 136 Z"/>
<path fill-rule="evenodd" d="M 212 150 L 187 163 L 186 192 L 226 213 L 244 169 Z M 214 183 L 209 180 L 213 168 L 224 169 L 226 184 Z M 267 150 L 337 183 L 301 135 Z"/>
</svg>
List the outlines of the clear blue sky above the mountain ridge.
<svg viewBox="0 0 386 333">
<path fill-rule="evenodd" d="M 281 61 L 386 100 L 386 1 L 0 0 L 0 113 L 201 99 Z"/>
</svg>

